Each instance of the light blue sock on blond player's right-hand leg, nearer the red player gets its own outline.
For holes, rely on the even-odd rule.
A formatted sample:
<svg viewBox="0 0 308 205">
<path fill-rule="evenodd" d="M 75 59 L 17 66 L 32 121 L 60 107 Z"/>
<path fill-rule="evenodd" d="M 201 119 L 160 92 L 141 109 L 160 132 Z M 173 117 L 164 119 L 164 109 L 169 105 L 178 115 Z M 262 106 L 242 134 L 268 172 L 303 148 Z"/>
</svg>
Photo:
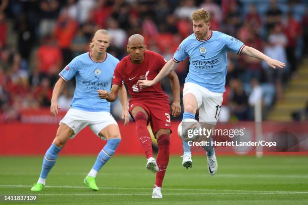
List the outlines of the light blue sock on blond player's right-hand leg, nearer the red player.
<svg viewBox="0 0 308 205">
<path fill-rule="evenodd" d="M 94 163 L 92 169 L 99 171 L 104 166 L 104 164 L 106 164 L 106 162 L 112 157 L 120 142 L 121 139 L 118 138 L 108 140 L 107 144 L 98 154 L 96 162 Z"/>
</svg>

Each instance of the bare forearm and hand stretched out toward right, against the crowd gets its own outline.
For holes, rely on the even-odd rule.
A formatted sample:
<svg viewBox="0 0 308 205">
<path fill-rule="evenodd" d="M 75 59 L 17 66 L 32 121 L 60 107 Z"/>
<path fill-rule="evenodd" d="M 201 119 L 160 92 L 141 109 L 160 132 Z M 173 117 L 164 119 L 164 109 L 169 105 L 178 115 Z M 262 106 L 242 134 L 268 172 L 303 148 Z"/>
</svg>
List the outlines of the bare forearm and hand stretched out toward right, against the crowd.
<svg viewBox="0 0 308 205">
<path fill-rule="evenodd" d="M 283 68 L 285 66 L 285 63 L 280 62 L 278 60 L 272 59 L 270 57 L 268 57 L 267 55 L 261 53 L 260 51 L 258 51 L 255 48 L 249 47 L 249 46 L 245 46 L 243 51 L 244 54 L 247 54 L 251 57 L 255 57 L 255 58 L 259 58 L 261 60 L 264 60 L 265 62 L 267 62 L 267 64 L 272 67 L 272 68 Z"/>
</svg>

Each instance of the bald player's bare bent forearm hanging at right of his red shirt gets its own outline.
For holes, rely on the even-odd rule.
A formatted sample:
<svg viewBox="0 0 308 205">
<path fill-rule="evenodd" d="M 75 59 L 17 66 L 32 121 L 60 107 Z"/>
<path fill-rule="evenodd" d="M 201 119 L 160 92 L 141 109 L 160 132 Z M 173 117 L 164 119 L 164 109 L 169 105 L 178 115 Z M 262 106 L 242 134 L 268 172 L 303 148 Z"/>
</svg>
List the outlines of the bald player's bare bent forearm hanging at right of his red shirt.
<svg viewBox="0 0 308 205">
<path fill-rule="evenodd" d="M 178 117 L 181 114 L 180 81 L 178 75 L 174 71 L 171 71 L 168 77 L 170 78 L 173 92 L 173 103 L 171 105 L 172 115 L 173 117 Z"/>
</svg>

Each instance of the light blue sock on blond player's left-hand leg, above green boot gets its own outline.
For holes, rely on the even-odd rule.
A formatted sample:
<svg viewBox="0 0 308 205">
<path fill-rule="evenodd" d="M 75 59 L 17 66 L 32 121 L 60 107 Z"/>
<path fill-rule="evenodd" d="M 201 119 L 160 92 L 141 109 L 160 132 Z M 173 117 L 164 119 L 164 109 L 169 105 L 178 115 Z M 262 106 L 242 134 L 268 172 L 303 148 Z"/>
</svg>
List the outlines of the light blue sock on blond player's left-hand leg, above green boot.
<svg viewBox="0 0 308 205">
<path fill-rule="evenodd" d="M 57 157 L 58 157 L 58 153 L 61 151 L 61 148 L 51 144 L 51 146 L 49 147 L 49 149 L 46 151 L 44 159 L 43 159 L 43 166 L 42 166 L 42 171 L 41 171 L 41 178 L 46 179 L 47 175 L 49 173 L 49 171 L 51 170 L 51 168 L 53 167 L 53 165 L 55 164 Z"/>
</svg>

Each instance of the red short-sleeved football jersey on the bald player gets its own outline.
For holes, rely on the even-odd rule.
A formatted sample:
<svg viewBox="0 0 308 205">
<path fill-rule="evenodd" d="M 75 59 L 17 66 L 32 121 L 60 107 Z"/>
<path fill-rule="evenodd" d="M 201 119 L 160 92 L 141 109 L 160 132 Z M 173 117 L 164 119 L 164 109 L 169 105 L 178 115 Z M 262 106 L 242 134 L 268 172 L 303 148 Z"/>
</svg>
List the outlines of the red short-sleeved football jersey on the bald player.
<svg viewBox="0 0 308 205">
<path fill-rule="evenodd" d="M 153 51 L 145 51 L 141 64 L 133 64 L 130 61 L 130 55 L 125 56 L 114 70 L 112 84 L 122 85 L 124 81 L 133 99 L 145 97 L 168 99 L 168 95 L 161 87 L 161 82 L 150 87 L 136 85 L 139 79 L 154 79 L 166 62 L 163 56 Z"/>
</svg>

